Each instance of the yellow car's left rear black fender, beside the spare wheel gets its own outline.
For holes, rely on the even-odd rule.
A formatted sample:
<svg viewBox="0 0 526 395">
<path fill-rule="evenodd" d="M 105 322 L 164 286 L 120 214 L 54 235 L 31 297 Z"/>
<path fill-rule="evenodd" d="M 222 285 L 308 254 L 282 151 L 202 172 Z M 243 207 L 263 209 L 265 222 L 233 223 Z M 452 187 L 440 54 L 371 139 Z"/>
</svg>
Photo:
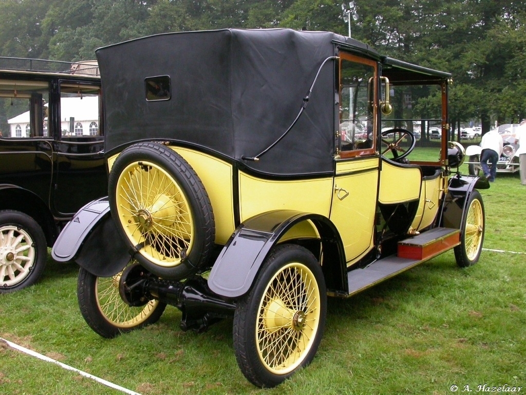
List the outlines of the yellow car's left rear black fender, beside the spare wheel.
<svg viewBox="0 0 526 395">
<path fill-rule="evenodd" d="M 58 235 L 51 255 L 55 261 L 75 261 L 96 276 L 110 277 L 129 262 L 128 250 L 103 197 L 77 211 Z"/>
</svg>

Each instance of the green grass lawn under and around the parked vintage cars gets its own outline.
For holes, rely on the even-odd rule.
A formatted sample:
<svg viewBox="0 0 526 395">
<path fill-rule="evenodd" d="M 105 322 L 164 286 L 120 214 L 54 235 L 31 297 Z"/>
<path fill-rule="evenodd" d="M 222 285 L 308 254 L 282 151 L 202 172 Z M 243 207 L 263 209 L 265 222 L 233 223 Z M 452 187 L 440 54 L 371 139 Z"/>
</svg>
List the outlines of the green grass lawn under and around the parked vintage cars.
<svg viewBox="0 0 526 395">
<path fill-rule="evenodd" d="M 518 174 L 498 174 L 481 194 L 484 248 L 525 253 Z M 37 285 L 0 295 L 0 337 L 144 395 L 451 394 L 453 384 L 475 393 L 484 383 L 526 392 L 525 263 L 526 255 L 484 250 L 477 265 L 460 269 L 450 251 L 355 297 L 330 299 L 312 364 L 271 390 L 239 371 L 231 319 L 183 332 L 180 312 L 168 307 L 155 325 L 100 338 L 80 315 L 75 265 L 49 261 Z M 0 343 L 0 393 L 122 392 Z"/>
</svg>

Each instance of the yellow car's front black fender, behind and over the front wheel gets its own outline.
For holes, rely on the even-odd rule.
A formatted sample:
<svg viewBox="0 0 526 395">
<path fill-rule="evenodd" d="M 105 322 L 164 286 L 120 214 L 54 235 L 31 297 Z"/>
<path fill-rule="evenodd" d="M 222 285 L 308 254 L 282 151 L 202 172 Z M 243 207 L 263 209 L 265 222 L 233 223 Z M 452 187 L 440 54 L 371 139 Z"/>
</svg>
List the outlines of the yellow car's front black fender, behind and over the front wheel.
<svg viewBox="0 0 526 395">
<path fill-rule="evenodd" d="M 444 197 L 440 226 L 463 229 L 462 213 L 466 210 L 468 197 L 474 189 L 488 189 L 490 183 L 484 177 L 457 174 L 449 180 L 448 193 Z"/>
</svg>

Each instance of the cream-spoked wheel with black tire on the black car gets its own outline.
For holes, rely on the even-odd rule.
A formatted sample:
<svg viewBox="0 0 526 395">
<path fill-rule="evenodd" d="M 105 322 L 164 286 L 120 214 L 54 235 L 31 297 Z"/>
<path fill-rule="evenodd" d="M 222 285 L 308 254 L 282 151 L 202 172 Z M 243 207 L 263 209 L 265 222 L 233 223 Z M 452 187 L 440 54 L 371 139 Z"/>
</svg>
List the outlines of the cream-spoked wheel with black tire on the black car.
<svg viewBox="0 0 526 395">
<path fill-rule="evenodd" d="M 46 236 L 29 215 L 0 211 L 0 260 L 0 293 L 29 287 L 42 277 L 47 263 Z"/>
</svg>

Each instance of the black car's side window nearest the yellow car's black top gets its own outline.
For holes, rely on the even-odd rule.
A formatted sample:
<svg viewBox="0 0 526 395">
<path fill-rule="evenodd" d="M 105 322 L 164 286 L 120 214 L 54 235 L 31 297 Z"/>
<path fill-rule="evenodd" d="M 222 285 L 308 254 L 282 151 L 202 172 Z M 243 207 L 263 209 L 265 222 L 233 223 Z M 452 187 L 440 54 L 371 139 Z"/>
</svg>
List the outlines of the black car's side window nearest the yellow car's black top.
<svg viewBox="0 0 526 395">
<path fill-rule="evenodd" d="M 63 82 L 60 84 L 60 129 L 63 137 L 102 135 L 98 127 L 100 88 Z"/>
</svg>

